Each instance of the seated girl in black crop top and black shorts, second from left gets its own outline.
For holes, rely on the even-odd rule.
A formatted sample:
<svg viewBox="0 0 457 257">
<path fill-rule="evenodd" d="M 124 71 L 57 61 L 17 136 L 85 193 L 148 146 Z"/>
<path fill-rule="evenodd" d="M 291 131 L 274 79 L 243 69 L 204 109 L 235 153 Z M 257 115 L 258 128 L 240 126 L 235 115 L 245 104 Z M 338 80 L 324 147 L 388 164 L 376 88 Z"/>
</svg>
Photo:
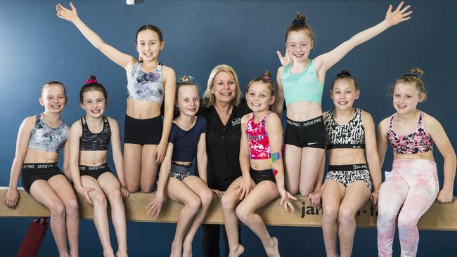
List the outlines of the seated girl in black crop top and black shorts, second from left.
<svg viewBox="0 0 457 257">
<path fill-rule="evenodd" d="M 103 247 L 103 256 L 115 256 L 110 242 L 107 202 L 117 236 L 116 256 L 127 256 L 127 228 L 122 197 L 129 197 L 122 166 L 122 152 L 117 121 L 105 117 L 108 95 L 94 76 L 89 77 L 79 92 L 79 105 L 86 115 L 72 125 L 70 134 L 70 172 L 75 190 L 88 204 L 94 206 L 94 223 Z M 107 164 L 108 146 L 122 183 L 111 173 Z"/>
</svg>

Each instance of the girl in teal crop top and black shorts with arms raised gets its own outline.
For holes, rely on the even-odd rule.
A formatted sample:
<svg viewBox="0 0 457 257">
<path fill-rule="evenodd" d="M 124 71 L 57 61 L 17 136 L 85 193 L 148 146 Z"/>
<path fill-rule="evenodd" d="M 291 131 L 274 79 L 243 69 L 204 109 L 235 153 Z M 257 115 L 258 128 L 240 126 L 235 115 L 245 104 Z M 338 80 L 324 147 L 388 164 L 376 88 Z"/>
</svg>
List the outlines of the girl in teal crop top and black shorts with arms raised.
<svg viewBox="0 0 457 257">
<path fill-rule="evenodd" d="M 292 194 L 300 192 L 311 203 L 318 204 L 321 181 L 316 181 L 319 166 L 323 163 L 326 130 L 322 118 L 322 93 L 326 72 L 354 47 L 362 44 L 385 29 L 409 20 L 410 6 L 403 2 L 392 11 L 389 6 L 385 19 L 378 25 L 354 35 L 328 53 L 311 60 L 309 53 L 314 46 L 314 34 L 307 25 L 306 17 L 296 15 L 285 32 L 285 56 L 278 51 L 283 66 L 276 77 L 278 90 L 273 110 L 281 117 L 283 105 L 287 105 L 285 129 L 285 185 Z M 408 11 L 408 12 L 407 12 Z"/>
</svg>

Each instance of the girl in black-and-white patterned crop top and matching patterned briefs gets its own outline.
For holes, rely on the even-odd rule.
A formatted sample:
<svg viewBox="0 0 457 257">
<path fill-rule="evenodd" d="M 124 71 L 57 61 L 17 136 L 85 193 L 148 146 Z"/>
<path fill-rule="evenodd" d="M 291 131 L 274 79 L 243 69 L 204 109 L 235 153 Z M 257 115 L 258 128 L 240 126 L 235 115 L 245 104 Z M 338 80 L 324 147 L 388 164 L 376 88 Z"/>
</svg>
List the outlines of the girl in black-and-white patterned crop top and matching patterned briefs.
<svg viewBox="0 0 457 257">
<path fill-rule="evenodd" d="M 330 91 L 335 109 L 323 114 L 329 166 L 321 190 L 321 222 L 328 257 L 337 256 L 337 235 L 340 256 L 351 256 L 356 213 L 368 198 L 376 205 L 381 186 L 375 123 L 368 112 L 354 108 L 359 96 L 356 80 L 343 70 Z"/>
</svg>

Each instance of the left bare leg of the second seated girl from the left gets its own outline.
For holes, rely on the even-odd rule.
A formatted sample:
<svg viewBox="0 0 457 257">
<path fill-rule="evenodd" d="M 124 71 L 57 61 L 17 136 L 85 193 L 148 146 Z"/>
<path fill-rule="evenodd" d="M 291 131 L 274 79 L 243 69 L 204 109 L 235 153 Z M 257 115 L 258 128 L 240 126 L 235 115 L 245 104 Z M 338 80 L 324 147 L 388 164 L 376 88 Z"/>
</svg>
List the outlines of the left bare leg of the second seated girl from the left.
<svg viewBox="0 0 457 257">
<path fill-rule="evenodd" d="M 114 257 L 110 241 L 110 225 L 108 224 L 108 204 L 105 194 L 101 189 L 98 181 L 91 176 L 81 176 L 83 187 L 93 187 L 94 191 L 89 192 L 89 197 L 94 203 L 94 224 L 103 247 L 103 256 Z"/>
</svg>

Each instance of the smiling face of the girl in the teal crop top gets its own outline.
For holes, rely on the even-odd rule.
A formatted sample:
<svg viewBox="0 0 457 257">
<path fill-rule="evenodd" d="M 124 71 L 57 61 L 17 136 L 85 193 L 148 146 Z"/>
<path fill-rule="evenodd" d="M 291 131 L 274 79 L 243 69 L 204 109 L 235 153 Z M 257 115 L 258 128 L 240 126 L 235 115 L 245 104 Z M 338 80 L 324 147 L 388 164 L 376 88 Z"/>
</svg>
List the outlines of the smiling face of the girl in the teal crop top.
<svg viewBox="0 0 457 257">
<path fill-rule="evenodd" d="M 313 39 L 304 29 L 291 31 L 285 41 L 285 47 L 295 62 L 302 62 L 309 58 L 309 52 L 313 48 Z"/>
</svg>

